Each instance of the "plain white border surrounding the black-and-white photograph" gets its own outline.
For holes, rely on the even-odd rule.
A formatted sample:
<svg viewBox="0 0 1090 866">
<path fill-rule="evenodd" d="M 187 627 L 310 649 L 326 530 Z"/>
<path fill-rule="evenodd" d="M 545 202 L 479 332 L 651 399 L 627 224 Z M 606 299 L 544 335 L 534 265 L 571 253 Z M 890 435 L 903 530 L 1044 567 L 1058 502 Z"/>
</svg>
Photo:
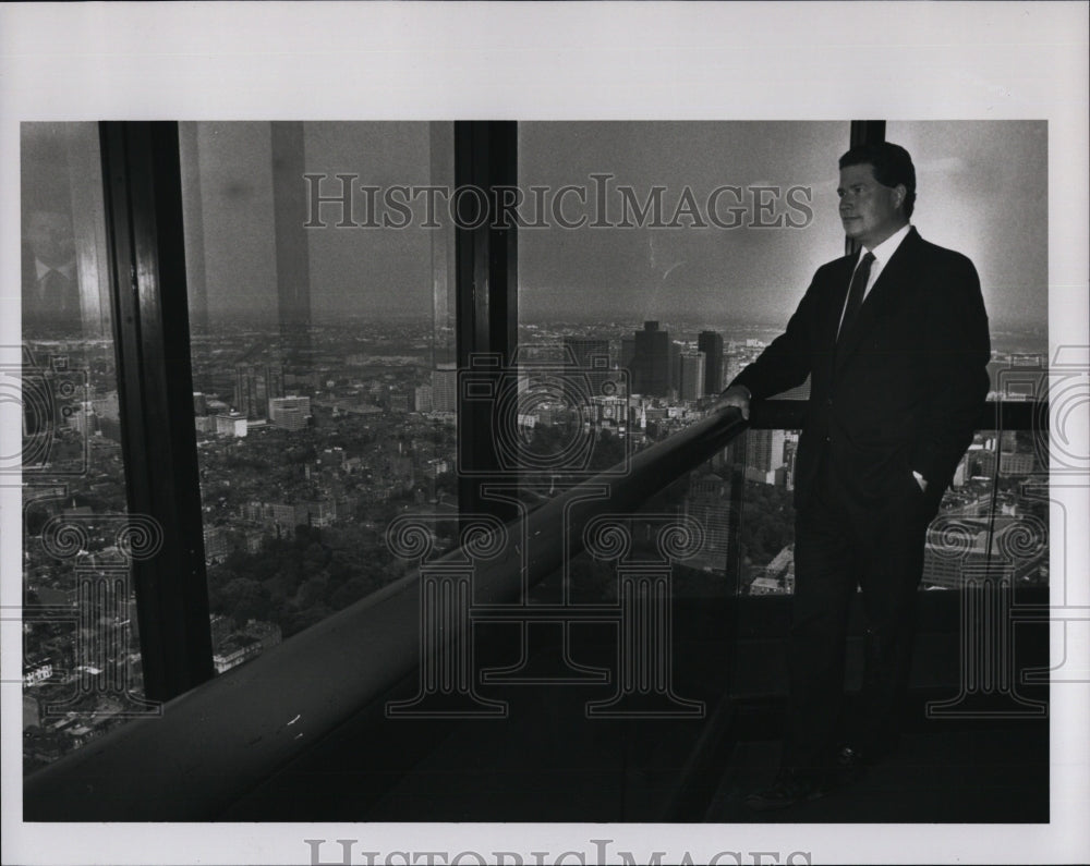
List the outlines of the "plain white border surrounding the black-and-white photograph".
<svg viewBox="0 0 1090 866">
<path fill-rule="evenodd" d="M 0 343 L 20 339 L 8 286 L 20 284 L 22 121 L 887 118 L 1047 121 L 1050 349 L 1087 346 L 1087 13 L 1086 2 L 5 4 Z M 1068 432 L 1086 454 L 1086 418 Z M 17 435 L 0 430 L 3 453 Z M 1070 526 L 1090 525 L 1087 493 L 1086 484 L 1054 492 Z M 0 496 L 0 603 L 17 607 L 20 492 Z M 1069 573 L 1090 573 L 1087 535 L 1067 538 Z M 1068 603 L 1090 603 L 1082 583 L 1069 583 Z M 1087 631 L 1069 634 L 1068 654 L 1090 657 Z M 21 654 L 5 623 L 5 683 Z M 3 687 L 5 721 L 17 718 L 17 692 Z M 547 851 L 549 863 L 581 851 L 594 862 L 589 840 L 610 839 L 611 852 L 667 851 L 664 862 L 723 851 L 747 863 L 748 852 L 777 852 L 778 862 L 807 852 L 813 863 L 1086 862 L 1090 690 L 1057 685 L 1051 697 L 1049 825 L 27 825 L 20 725 L 3 724 L 2 859 L 307 863 L 303 840 L 326 839 L 323 853 L 337 862 L 332 840 L 354 839 L 358 850 Z"/>
</svg>

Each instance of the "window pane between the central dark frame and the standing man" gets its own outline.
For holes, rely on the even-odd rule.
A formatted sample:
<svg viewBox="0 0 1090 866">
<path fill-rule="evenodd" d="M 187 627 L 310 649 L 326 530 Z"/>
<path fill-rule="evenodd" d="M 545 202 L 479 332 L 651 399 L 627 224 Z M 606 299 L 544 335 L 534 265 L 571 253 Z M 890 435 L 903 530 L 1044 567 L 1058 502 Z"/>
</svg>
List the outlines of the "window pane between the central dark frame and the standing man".
<svg viewBox="0 0 1090 866">
<path fill-rule="evenodd" d="M 843 254 L 848 137 L 846 122 L 520 124 L 523 212 L 545 223 L 519 236 L 520 349 L 607 358 L 626 413 L 597 410 L 588 435 L 631 452 L 668 438 L 783 331 L 814 268 Z M 538 413 L 535 437 L 555 425 Z M 750 431 L 641 509 L 699 527 L 676 594 L 744 590 L 770 568 L 789 587 L 796 440 Z M 572 598 L 615 594 L 600 572 L 573 562 Z"/>
</svg>

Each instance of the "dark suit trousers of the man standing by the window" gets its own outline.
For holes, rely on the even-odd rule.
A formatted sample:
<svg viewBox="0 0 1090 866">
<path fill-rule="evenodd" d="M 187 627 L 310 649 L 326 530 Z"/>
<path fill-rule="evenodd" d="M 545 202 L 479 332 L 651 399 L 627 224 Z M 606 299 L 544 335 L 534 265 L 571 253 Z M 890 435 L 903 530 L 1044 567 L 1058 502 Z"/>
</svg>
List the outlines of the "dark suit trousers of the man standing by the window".
<svg viewBox="0 0 1090 866">
<path fill-rule="evenodd" d="M 783 766 L 822 770 L 838 741 L 863 754 L 898 736 L 916 635 L 927 528 L 937 511 L 910 472 L 861 502 L 822 460 L 796 515 L 790 693 Z M 861 712 L 843 715 L 845 647 L 851 599 L 862 593 L 865 622 Z M 843 725 L 848 721 L 845 729 Z"/>
</svg>

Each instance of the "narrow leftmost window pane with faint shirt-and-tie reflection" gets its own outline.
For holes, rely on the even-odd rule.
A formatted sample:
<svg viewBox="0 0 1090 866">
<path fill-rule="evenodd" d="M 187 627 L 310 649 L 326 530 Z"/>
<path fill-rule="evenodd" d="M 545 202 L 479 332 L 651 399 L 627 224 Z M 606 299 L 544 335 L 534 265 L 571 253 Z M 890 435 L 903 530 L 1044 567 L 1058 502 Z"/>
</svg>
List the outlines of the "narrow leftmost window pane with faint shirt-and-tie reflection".
<svg viewBox="0 0 1090 866">
<path fill-rule="evenodd" d="M 22 388 L 23 452 L 4 474 L 23 484 L 29 772 L 155 708 L 141 692 L 98 129 L 24 123 L 20 137 L 23 341 L 3 366 Z"/>
</svg>

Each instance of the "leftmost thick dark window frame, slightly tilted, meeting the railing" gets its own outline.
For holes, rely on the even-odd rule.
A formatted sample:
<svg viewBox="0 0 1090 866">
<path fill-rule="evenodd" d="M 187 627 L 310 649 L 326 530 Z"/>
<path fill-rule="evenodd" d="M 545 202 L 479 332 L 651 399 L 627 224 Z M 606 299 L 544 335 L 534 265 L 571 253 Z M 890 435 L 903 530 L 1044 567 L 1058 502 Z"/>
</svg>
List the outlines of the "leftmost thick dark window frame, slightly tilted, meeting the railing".
<svg viewBox="0 0 1090 866">
<path fill-rule="evenodd" d="M 214 675 L 178 123 L 104 121 L 99 143 L 129 511 L 162 536 L 132 565 L 144 694 L 169 700 Z"/>
</svg>

